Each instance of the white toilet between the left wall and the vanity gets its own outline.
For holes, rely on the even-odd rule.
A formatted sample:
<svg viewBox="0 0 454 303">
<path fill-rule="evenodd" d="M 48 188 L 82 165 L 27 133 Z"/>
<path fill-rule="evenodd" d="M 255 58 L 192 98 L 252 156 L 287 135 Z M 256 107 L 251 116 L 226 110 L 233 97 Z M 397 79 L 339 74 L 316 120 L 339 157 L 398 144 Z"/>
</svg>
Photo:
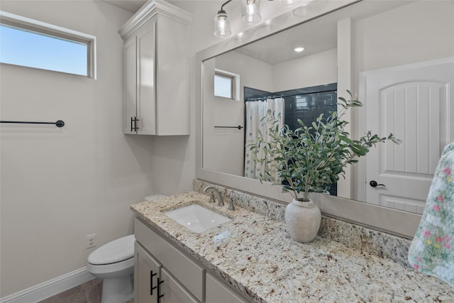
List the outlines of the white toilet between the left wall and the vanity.
<svg viewBox="0 0 454 303">
<path fill-rule="evenodd" d="M 145 197 L 151 201 L 166 197 L 153 194 Z M 124 303 L 133 299 L 134 235 L 116 239 L 92 252 L 87 260 L 87 271 L 103 279 L 101 303 Z"/>
</svg>

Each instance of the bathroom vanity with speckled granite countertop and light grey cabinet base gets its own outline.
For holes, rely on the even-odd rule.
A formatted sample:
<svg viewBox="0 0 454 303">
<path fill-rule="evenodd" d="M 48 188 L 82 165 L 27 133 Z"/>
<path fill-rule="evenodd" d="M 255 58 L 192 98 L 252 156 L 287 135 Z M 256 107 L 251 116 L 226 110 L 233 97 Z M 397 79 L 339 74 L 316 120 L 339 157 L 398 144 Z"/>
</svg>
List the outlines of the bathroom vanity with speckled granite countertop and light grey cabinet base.
<svg viewBox="0 0 454 303">
<path fill-rule="evenodd" d="M 311 243 L 297 243 L 279 219 L 284 205 L 256 204 L 255 197 L 220 189 L 224 199 L 234 199 L 234 211 L 210 204 L 209 196 L 199 192 L 131 206 L 137 241 L 135 302 L 158 302 L 159 296 L 159 302 L 452 302 L 454 298 L 454 290 L 445 282 L 406 265 L 406 239 L 323 217 L 319 236 Z M 232 220 L 195 233 L 165 215 L 190 204 Z M 354 236 L 358 232 L 360 239 Z M 343 238 L 334 241 L 335 233 Z"/>
</svg>

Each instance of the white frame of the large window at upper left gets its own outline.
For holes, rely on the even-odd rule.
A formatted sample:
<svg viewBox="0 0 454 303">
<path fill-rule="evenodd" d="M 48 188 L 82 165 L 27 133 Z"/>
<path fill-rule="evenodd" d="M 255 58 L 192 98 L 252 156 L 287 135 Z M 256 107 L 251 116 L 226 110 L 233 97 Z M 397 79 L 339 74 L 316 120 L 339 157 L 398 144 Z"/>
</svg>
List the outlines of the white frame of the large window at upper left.
<svg viewBox="0 0 454 303">
<path fill-rule="evenodd" d="M 38 33 L 42 35 L 48 35 L 50 37 L 62 38 L 65 40 L 74 41 L 76 43 L 82 43 L 87 45 L 87 75 L 78 75 L 71 72 L 62 72 L 69 75 L 77 75 L 81 77 L 88 77 L 96 79 L 96 36 L 89 35 L 87 33 L 81 33 L 79 31 L 73 31 L 69 28 L 63 28 L 61 26 L 55 26 L 50 23 L 41 22 L 31 18 L 18 16 L 13 13 L 6 11 L 0 11 L 0 24 L 4 26 L 11 26 L 18 28 L 23 31 L 29 31 L 32 33 Z M 37 70 L 48 70 L 40 67 L 29 67 L 25 65 L 15 65 L 11 63 L 1 62 L 3 65 L 14 65 L 21 67 L 34 68 Z M 61 72 L 57 70 L 50 70 L 51 72 Z"/>
</svg>

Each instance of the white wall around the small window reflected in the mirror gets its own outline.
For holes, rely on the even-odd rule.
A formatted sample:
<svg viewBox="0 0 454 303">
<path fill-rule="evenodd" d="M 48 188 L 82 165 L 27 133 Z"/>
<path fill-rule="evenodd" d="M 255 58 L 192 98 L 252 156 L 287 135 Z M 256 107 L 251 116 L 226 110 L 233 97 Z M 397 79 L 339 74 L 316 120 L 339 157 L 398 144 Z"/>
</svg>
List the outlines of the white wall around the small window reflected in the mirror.
<svg viewBox="0 0 454 303">
<path fill-rule="evenodd" d="M 214 69 L 240 77 L 238 101 L 214 96 Z M 204 63 L 204 168 L 243 176 L 244 87 L 272 91 L 272 65 L 238 52 L 228 52 Z M 211 97 L 210 97 L 211 96 Z M 221 160 L 220 160 L 221 159 Z"/>
</svg>

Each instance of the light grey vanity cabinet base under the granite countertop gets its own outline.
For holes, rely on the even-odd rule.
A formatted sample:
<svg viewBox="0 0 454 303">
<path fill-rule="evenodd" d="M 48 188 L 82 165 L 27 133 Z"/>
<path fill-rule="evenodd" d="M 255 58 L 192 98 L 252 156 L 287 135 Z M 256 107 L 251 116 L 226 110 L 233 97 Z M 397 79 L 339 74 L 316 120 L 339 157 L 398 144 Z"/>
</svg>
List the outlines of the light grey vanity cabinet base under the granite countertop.
<svg viewBox="0 0 454 303">
<path fill-rule="evenodd" d="M 137 217 L 134 233 L 135 303 L 248 302 Z"/>
</svg>

